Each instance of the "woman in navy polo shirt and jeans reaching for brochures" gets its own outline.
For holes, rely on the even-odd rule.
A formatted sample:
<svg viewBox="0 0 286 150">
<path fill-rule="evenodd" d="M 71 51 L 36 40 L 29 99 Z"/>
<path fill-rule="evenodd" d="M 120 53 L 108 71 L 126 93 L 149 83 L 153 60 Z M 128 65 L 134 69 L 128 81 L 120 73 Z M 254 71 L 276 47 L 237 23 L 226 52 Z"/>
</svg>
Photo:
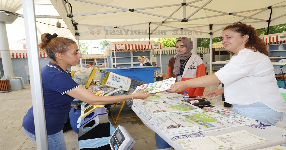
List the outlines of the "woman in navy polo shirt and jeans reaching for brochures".
<svg viewBox="0 0 286 150">
<path fill-rule="evenodd" d="M 49 33 L 42 34 L 41 41 L 40 49 L 45 51 L 52 60 L 41 69 L 49 150 L 66 149 L 62 129 L 74 98 L 92 105 L 103 105 L 129 99 L 146 99 L 155 94 L 138 91 L 130 95 L 95 96 L 89 90 L 78 85 L 70 76 L 71 74 L 66 71 L 67 67 L 78 65 L 82 57 L 78 52 L 76 42 Z M 36 143 L 33 107 L 23 118 L 23 129 L 25 134 Z"/>
</svg>

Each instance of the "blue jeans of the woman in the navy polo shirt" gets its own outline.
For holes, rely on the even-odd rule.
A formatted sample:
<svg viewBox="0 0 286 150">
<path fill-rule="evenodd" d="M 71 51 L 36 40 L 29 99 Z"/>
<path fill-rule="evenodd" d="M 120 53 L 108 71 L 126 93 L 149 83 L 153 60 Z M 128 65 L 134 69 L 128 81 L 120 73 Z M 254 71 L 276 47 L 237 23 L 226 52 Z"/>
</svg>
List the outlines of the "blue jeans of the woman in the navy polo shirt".
<svg viewBox="0 0 286 150">
<path fill-rule="evenodd" d="M 28 132 L 23 128 L 25 134 L 31 139 L 35 144 L 36 142 L 36 135 Z M 59 131 L 58 133 L 48 135 L 48 147 L 49 150 L 66 150 L 67 146 L 65 145 L 65 137 L 63 136 L 63 130 Z"/>
</svg>

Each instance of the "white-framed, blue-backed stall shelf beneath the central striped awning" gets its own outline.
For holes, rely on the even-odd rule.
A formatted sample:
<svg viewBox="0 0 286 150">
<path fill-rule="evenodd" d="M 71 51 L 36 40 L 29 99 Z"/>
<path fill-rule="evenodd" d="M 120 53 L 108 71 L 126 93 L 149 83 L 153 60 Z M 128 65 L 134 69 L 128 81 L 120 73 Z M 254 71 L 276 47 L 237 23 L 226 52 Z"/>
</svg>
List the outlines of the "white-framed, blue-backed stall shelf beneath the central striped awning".
<svg viewBox="0 0 286 150">
<path fill-rule="evenodd" d="M 140 65 L 139 56 L 147 57 L 151 62 L 151 52 L 146 51 L 113 51 L 111 53 L 112 67 L 135 67 Z"/>
</svg>

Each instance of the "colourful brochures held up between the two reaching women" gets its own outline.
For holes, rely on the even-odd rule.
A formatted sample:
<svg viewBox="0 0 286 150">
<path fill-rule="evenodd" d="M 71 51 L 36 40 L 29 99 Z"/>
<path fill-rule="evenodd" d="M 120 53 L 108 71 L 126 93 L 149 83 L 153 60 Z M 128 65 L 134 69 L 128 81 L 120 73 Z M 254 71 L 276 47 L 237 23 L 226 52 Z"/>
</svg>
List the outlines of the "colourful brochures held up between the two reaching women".
<svg viewBox="0 0 286 150">
<path fill-rule="evenodd" d="M 172 84 L 174 84 L 176 81 L 176 78 L 169 78 L 163 81 L 154 82 L 154 83 L 148 83 L 148 84 L 142 84 L 136 87 L 133 93 L 137 91 L 148 91 L 149 93 L 157 93 L 161 91 L 166 91 L 169 87 L 171 87 Z"/>
</svg>

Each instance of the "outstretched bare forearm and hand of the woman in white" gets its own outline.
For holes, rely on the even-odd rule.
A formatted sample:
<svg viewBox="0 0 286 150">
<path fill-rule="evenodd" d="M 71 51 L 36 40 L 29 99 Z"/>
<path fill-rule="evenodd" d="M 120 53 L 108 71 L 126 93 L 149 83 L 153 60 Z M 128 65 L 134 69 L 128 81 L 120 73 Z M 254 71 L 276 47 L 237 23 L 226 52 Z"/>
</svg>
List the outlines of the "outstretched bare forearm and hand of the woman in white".
<svg viewBox="0 0 286 150">
<path fill-rule="evenodd" d="M 167 91 L 170 93 L 178 93 L 187 87 L 206 87 L 217 83 L 221 83 L 215 74 L 205 75 L 191 80 L 174 83 Z"/>
</svg>

